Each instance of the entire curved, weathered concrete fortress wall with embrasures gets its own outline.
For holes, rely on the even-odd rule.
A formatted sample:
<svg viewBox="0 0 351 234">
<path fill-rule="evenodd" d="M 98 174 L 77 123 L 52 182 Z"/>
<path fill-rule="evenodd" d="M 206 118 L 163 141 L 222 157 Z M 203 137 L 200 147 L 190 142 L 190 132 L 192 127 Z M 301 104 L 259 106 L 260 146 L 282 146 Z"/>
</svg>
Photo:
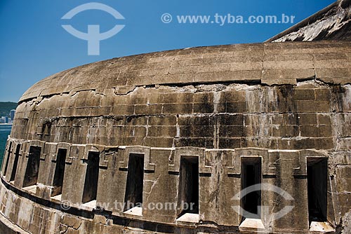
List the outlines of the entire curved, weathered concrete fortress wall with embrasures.
<svg viewBox="0 0 351 234">
<path fill-rule="evenodd" d="M 350 65 L 349 42 L 260 43 L 120 57 L 45 78 L 16 110 L 0 185 L 8 228 L 0 229 L 350 233 Z M 135 154 L 143 156 L 141 174 Z M 199 163 L 197 214 L 149 209 L 179 205 L 184 157 Z M 263 212 L 256 228 L 243 224 L 232 198 L 246 183 L 244 158 L 259 162 L 262 183 L 293 197 L 263 189 L 260 205 L 276 214 L 292 205 L 291 212 L 281 219 Z M 326 184 L 325 230 L 309 223 L 307 167 L 317 160 L 328 162 L 316 181 Z M 127 189 L 136 174 L 143 205 L 128 213 L 114 203 L 136 193 Z"/>
</svg>

